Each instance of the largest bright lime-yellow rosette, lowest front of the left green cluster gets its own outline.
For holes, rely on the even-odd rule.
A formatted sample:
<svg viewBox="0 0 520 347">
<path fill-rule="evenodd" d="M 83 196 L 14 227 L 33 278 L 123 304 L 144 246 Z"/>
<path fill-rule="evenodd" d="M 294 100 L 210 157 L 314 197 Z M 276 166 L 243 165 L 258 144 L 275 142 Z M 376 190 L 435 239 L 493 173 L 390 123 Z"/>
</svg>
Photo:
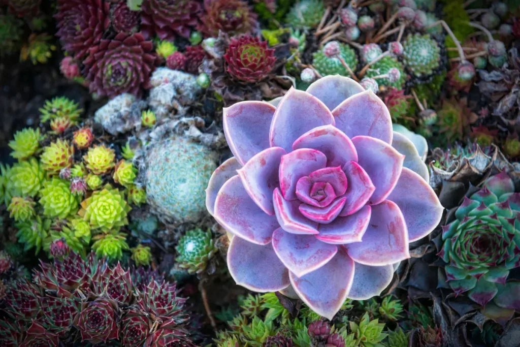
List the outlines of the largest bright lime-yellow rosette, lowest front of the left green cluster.
<svg viewBox="0 0 520 347">
<path fill-rule="evenodd" d="M 127 213 L 131 209 L 121 191 L 106 185 L 85 199 L 78 213 L 94 229 L 110 232 L 128 224 Z"/>
</svg>

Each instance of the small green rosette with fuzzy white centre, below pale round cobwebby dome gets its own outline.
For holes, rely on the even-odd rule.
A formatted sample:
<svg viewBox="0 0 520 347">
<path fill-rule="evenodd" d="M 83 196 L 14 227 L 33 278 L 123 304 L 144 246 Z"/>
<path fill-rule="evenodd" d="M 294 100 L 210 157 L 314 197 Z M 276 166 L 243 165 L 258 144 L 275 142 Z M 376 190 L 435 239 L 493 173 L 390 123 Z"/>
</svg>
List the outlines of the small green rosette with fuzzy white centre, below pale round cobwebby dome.
<svg viewBox="0 0 520 347">
<path fill-rule="evenodd" d="M 206 268 L 207 262 L 217 251 L 211 235 L 211 231 L 204 232 L 202 229 L 193 229 L 179 239 L 176 247 L 177 262 L 181 268 L 187 269 L 188 273 L 200 274 Z"/>
</svg>

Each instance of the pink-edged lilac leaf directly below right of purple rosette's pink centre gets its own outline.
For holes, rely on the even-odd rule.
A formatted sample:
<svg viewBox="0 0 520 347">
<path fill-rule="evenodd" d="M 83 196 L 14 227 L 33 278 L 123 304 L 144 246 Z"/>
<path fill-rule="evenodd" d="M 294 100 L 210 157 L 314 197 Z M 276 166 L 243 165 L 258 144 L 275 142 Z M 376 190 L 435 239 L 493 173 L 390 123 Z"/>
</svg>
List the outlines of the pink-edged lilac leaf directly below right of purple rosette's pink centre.
<svg viewBox="0 0 520 347">
<path fill-rule="evenodd" d="M 365 205 L 354 214 L 346 217 L 336 217 L 330 224 L 320 224 L 318 226 L 320 233 L 316 235 L 316 238 L 334 245 L 360 242 L 370 222 L 371 212 L 371 207 Z"/>
</svg>

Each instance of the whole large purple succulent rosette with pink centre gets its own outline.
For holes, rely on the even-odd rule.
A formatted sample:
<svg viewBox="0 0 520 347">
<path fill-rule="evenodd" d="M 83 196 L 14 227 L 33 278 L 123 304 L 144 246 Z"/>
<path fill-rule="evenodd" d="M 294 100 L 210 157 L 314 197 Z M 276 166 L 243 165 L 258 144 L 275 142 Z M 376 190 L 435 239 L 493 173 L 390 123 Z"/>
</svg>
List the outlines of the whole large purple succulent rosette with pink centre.
<svg viewBox="0 0 520 347">
<path fill-rule="evenodd" d="M 235 156 L 210 179 L 206 207 L 233 235 L 227 263 L 243 287 L 294 290 L 330 319 L 347 298 L 378 295 L 408 243 L 440 221 L 435 192 L 405 167 L 417 149 L 354 80 L 327 76 L 277 107 L 238 102 L 223 122 Z"/>
</svg>

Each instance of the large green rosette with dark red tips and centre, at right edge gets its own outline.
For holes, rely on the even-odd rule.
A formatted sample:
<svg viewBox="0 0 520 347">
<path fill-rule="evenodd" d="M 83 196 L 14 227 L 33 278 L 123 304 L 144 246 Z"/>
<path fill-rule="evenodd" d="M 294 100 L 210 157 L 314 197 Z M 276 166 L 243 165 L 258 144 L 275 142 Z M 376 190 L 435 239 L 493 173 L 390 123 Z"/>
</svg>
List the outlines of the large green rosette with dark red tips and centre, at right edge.
<svg viewBox="0 0 520 347">
<path fill-rule="evenodd" d="M 480 190 L 464 197 L 443 227 L 439 255 L 447 263 L 446 279 L 457 294 L 480 305 L 489 301 L 504 309 L 518 308 L 513 300 L 520 282 L 506 282 L 520 266 L 520 193 L 505 172 L 489 177 Z"/>
</svg>

